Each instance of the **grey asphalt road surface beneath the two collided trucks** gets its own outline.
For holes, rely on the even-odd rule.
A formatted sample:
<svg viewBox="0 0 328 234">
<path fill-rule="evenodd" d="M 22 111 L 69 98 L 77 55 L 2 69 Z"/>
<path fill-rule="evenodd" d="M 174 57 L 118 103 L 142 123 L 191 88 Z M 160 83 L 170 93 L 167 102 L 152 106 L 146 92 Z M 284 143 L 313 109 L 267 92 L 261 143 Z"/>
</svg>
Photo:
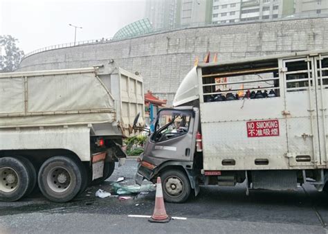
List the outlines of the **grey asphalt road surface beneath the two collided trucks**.
<svg viewBox="0 0 328 234">
<path fill-rule="evenodd" d="M 185 217 L 167 224 L 149 223 L 155 192 L 131 199 L 95 197 L 99 188 L 113 191 L 113 181 L 134 184 L 135 159 L 101 186 L 88 188 L 66 204 L 55 204 L 38 192 L 14 203 L 0 202 L 0 233 L 326 233 L 328 195 L 311 186 L 296 192 L 251 190 L 236 187 L 202 187 L 198 197 L 185 204 L 165 204 L 168 215 Z"/>
</svg>

